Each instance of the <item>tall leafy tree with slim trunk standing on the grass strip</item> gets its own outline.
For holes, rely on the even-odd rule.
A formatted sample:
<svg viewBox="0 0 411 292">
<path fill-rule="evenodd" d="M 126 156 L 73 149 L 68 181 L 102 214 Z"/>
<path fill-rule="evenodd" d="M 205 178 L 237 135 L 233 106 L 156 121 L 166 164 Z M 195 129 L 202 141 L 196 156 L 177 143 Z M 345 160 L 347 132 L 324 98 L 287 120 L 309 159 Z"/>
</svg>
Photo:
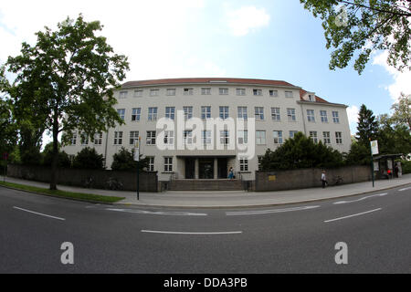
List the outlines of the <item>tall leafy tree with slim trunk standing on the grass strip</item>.
<svg viewBox="0 0 411 292">
<path fill-rule="evenodd" d="M 16 108 L 35 112 L 52 133 L 51 190 L 57 189 L 60 132 L 66 134 L 65 143 L 75 130 L 93 137 L 123 123 L 113 108 L 113 89 L 129 64 L 127 57 L 114 54 L 105 37 L 95 35 L 101 29 L 99 21 L 87 23 L 81 15 L 76 21 L 67 18 L 57 31 L 45 27 L 37 32 L 37 44 L 23 43 L 21 55 L 6 63 L 16 74 L 9 90 Z"/>
</svg>

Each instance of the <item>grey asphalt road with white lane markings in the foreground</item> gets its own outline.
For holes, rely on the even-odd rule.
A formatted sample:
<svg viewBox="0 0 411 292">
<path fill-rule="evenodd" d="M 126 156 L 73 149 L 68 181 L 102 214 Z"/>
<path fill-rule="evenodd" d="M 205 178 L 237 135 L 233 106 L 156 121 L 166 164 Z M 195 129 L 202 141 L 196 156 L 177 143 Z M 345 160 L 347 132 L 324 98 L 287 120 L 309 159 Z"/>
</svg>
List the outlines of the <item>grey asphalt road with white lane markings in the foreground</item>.
<svg viewBox="0 0 411 292">
<path fill-rule="evenodd" d="M 60 261 L 69 242 L 74 264 Z M 337 243 L 347 264 L 337 265 Z M 125 208 L 0 187 L 0 273 L 411 273 L 411 185 L 239 209 Z"/>
</svg>

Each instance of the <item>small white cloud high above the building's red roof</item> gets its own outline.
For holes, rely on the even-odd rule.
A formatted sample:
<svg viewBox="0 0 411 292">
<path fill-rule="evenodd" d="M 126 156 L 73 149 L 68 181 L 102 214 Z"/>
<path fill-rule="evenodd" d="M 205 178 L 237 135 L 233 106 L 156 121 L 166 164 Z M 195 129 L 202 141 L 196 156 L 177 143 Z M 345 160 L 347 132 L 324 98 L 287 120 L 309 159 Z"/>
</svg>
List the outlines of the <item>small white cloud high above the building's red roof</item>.
<svg viewBox="0 0 411 292">
<path fill-rule="evenodd" d="M 260 27 L 269 26 L 269 14 L 264 8 L 243 6 L 227 12 L 227 25 L 234 36 L 246 36 Z"/>
</svg>

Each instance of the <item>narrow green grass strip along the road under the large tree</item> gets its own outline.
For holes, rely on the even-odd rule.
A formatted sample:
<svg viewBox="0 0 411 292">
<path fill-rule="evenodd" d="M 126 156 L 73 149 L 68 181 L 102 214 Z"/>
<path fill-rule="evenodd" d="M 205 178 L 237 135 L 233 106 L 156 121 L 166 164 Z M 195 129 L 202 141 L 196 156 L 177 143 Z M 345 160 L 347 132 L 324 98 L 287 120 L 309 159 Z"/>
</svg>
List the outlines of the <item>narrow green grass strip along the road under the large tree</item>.
<svg viewBox="0 0 411 292">
<path fill-rule="evenodd" d="M 8 186 L 17 190 L 43 193 L 47 195 L 57 196 L 61 198 L 77 199 L 82 201 L 99 202 L 99 203 L 115 203 L 124 199 L 124 197 L 112 197 L 107 195 L 92 194 L 92 193 L 72 193 L 65 191 L 52 191 L 44 188 L 38 188 L 36 186 L 19 184 L 19 183 L 4 183 L 0 182 L 0 185 Z"/>
</svg>

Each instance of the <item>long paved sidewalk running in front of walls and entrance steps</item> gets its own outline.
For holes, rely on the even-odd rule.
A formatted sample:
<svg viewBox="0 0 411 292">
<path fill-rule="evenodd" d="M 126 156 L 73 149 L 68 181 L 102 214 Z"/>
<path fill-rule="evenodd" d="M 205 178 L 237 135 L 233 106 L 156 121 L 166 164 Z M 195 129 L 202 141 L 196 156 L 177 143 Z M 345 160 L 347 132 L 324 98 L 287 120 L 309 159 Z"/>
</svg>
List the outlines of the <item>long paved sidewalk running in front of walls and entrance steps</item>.
<svg viewBox="0 0 411 292">
<path fill-rule="evenodd" d="M 3 177 L 0 176 L 1 182 Z M 48 183 L 38 183 L 6 177 L 8 183 L 21 183 L 37 187 L 48 188 Z M 140 193 L 140 200 L 137 201 L 136 192 L 109 191 L 97 189 L 84 189 L 66 185 L 58 185 L 62 191 L 75 193 L 94 193 L 100 195 L 111 195 L 125 197 L 116 205 L 136 205 L 136 206 L 161 206 L 161 207 L 192 207 L 192 208 L 227 208 L 227 207 L 247 207 L 265 206 L 287 203 L 308 203 L 319 200 L 351 196 L 355 194 L 371 193 L 383 191 L 385 189 L 403 186 L 411 183 L 411 174 L 405 174 L 398 179 L 375 181 L 374 188 L 372 182 L 351 183 L 340 186 L 331 186 L 325 189 L 311 188 L 292 191 L 279 192 L 166 192 L 166 193 Z M 1 190 L 1 189 L 0 189 Z"/>
</svg>

